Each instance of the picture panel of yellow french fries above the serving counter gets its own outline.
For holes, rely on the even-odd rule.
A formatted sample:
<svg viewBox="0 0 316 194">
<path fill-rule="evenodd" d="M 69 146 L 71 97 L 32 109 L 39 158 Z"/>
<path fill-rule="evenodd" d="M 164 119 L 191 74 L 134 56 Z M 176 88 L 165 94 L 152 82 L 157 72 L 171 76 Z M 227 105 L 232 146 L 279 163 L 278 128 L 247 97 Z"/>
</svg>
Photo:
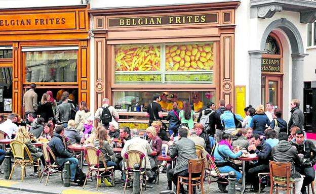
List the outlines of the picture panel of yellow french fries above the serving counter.
<svg viewBox="0 0 316 194">
<path fill-rule="evenodd" d="M 160 71 L 160 45 L 116 45 L 115 71 Z"/>
</svg>

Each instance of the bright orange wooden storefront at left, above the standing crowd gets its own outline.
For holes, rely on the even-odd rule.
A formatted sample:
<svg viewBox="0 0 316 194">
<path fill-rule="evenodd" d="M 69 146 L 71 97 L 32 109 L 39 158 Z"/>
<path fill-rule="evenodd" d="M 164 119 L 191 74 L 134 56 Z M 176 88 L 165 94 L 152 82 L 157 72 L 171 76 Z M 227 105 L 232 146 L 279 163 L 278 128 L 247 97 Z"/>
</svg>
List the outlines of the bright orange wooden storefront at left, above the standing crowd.
<svg viewBox="0 0 316 194">
<path fill-rule="evenodd" d="M 73 91 L 90 103 L 88 5 L 1 9 L 0 114 L 23 115 L 24 92 L 36 83 L 37 101 L 52 90 Z M 75 94 L 77 92 L 77 94 Z"/>
</svg>

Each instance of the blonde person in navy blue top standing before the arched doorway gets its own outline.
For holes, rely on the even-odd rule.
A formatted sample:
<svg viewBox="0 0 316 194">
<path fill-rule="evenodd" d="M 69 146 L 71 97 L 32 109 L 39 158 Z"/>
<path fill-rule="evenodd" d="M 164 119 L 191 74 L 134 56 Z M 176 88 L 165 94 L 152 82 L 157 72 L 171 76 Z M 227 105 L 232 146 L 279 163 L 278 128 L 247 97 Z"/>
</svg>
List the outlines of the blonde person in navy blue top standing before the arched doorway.
<svg viewBox="0 0 316 194">
<path fill-rule="evenodd" d="M 253 133 L 263 135 L 266 127 L 270 126 L 271 122 L 264 113 L 264 106 L 259 105 L 256 108 L 256 113 L 252 117 L 250 127 L 253 129 Z"/>
</svg>

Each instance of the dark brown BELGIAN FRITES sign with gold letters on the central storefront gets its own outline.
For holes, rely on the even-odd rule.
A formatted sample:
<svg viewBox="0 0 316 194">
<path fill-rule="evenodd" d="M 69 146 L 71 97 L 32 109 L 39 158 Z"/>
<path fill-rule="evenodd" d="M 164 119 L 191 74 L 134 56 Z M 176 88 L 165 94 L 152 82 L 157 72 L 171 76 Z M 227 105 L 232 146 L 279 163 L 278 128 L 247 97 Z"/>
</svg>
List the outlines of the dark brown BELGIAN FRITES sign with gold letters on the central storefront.
<svg viewBox="0 0 316 194">
<path fill-rule="evenodd" d="M 217 13 L 153 17 L 108 18 L 108 27 L 217 23 Z"/>
</svg>

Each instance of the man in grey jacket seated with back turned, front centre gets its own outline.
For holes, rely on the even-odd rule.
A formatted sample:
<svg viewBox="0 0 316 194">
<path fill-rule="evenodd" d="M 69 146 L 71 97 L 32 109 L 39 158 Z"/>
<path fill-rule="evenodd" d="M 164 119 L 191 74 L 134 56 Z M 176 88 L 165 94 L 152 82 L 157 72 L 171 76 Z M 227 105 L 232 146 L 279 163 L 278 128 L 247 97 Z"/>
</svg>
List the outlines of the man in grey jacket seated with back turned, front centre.
<svg viewBox="0 0 316 194">
<path fill-rule="evenodd" d="M 186 138 L 188 135 L 188 130 L 181 127 L 178 131 L 179 140 L 174 142 L 173 145 L 169 147 L 170 157 L 176 158 L 176 166 L 173 169 L 170 169 L 167 174 L 168 178 L 168 187 L 171 188 L 171 180 L 175 185 L 178 182 L 178 176 L 189 176 L 188 173 L 188 161 L 189 159 L 198 159 L 195 152 L 195 143 Z M 197 175 L 199 176 L 199 175 Z M 180 188 L 181 193 L 185 193 L 183 185 L 181 184 Z"/>
</svg>

